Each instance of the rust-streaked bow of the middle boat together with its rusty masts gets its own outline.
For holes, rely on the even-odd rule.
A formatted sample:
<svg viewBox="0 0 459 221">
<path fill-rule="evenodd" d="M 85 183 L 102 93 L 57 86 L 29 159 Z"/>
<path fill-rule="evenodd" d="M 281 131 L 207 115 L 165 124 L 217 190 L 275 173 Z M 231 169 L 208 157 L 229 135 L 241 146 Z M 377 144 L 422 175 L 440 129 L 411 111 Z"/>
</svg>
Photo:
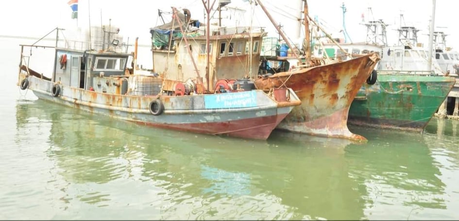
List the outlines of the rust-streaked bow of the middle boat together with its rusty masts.
<svg viewBox="0 0 459 221">
<path fill-rule="evenodd" d="M 288 38 L 275 24 L 262 2 L 260 0 L 257 2 L 287 46 L 292 49 L 292 56 L 263 56 L 260 75 L 255 80 L 255 85 L 258 89 L 264 90 L 282 86 L 292 88 L 302 102 L 277 128 L 316 136 L 366 140 L 365 137 L 349 131 L 348 111 L 357 91 L 365 81 L 372 78 L 372 70 L 379 60 L 378 54 L 370 53 L 347 61 L 329 61 L 323 57 L 311 57 L 309 21 L 323 32 L 324 30 L 307 15 L 307 2 L 304 1 L 306 37 L 304 55 L 300 56 L 299 51 L 291 47 Z M 315 31 L 315 28 L 312 30 Z M 285 65 L 295 61 L 298 65 L 294 67 Z M 280 62 L 282 65 L 274 70 L 267 66 L 269 62 Z M 274 71 L 269 73 L 267 69 Z"/>
</svg>

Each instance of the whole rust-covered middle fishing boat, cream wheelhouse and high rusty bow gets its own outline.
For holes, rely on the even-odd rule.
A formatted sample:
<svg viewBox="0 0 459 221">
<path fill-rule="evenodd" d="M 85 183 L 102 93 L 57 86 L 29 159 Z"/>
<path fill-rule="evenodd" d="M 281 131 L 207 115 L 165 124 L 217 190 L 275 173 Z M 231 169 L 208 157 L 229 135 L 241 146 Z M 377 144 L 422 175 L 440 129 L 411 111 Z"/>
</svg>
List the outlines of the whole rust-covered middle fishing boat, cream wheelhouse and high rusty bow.
<svg viewBox="0 0 459 221">
<path fill-rule="evenodd" d="M 212 7 L 209 1 L 207 4 L 209 15 Z M 219 8 L 223 6 L 221 4 L 220 2 Z M 260 1 L 258 5 L 263 7 Z M 239 85 L 243 88 L 262 89 L 267 93 L 282 93 L 279 91 L 291 88 L 302 103 L 279 123 L 278 129 L 365 140 L 348 130 L 347 114 L 357 90 L 369 78 L 377 62 L 377 54 L 327 65 L 316 59 L 311 62 L 316 67 L 302 67 L 293 71 L 287 69 L 258 79 L 261 76 L 260 60 L 266 59 L 260 58 L 263 37 L 267 34 L 262 27 L 231 27 L 219 24 L 205 28 L 200 26 L 201 22 L 191 18 L 189 10 L 183 11 L 184 13 L 176 12 L 170 22 L 150 29 L 153 68 L 164 75 L 167 91 L 183 91 L 184 87 L 176 83 L 177 79 L 191 77 L 194 70 L 205 71 L 203 82 L 209 90 L 225 91 Z M 209 19 L 207 23 L 210 23 Z M 188 40 L 189 44 L 186 42 L 187 38 L 191 39 Z M 189 47 L 183 46 L 184 42 Z M 186 65 L 190 63 L 190 57 L 197 61 L 195 66 Z M 301 63 L 305 62 L 304 59 L 299 60 Z M 243 84 L 238 84 L 240 82 Z"/>
</svg>

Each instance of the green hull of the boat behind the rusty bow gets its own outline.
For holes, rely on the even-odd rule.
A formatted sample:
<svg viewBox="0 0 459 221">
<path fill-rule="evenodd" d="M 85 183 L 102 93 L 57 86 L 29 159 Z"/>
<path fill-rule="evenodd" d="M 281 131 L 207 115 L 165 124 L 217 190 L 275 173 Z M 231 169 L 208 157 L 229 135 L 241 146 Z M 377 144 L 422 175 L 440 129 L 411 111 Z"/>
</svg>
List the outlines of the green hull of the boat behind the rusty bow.
<svg viewBox="0 0 459 221">
<path fill-rule="evenodd" d="M 377 82 L 364 84 L 352 102 L 350 124 L 422 132 L 456 82 L 444 76 L 378 73 Z"/>
</svg>

